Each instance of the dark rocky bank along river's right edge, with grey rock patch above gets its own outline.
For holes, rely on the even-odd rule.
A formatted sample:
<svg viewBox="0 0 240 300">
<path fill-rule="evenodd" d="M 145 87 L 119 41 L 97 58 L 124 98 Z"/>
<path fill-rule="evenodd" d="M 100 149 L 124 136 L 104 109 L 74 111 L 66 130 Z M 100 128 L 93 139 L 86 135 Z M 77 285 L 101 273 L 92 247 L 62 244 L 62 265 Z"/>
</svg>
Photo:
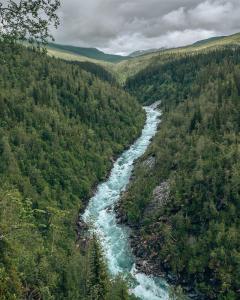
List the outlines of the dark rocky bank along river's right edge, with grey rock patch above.
<svg viewBox="0 0 240 300">
<path fill-rule="evenodd" d="M 132 180 L 132 179 L 131 179 Z M 125 192 L 127 193 L 127 191 Z M 162 182 L 159 186 L 157 186 L 153 191 L 153 198 L 151 203 L 146 207 L 144 214 L 148 215 L 152 211 L 157 210 L 162 205 L 166 205 L 169 201 L 169 183 Z M 124 197 L 124 193 L 122 195 Z M 153 237 L 149 240 L 144 239 L 141 235 L 141 225 L 133 226 L 128 222 L 127 216 L 123 213 L 122 202 L 115 206 L 115 213 L 117 222 L 119 224 L 127 225 L 131 228 L 130 238 L 130 246 L 132 252 L 135 256 L 136 268 L 139 272 L 142 272 L 146 275 L 153 275 L 156 277 L 164 277 L 170 285 L 179 286 L 183 288 L 184 292 L 188 295 L 190 299 L 196 300 L 206 300 L 204 295 L 199 294 L 194 288 L 194 282 L 186 282 L 180 276 L 172 274 L 170 272 L 170 268 L 168 265 L 168 259 L 165 261 L 161 261 L 159 259 L 158 251 L 157 251 L 157 241 L 158 236 Z M 163 217 L 159 222 L 167 221 L 163 220 Z M 157 226 L 157 224 L 155 224 Z M 152 232 L 154 232 L 154 227 L 152 228 Z"/>
</svg>

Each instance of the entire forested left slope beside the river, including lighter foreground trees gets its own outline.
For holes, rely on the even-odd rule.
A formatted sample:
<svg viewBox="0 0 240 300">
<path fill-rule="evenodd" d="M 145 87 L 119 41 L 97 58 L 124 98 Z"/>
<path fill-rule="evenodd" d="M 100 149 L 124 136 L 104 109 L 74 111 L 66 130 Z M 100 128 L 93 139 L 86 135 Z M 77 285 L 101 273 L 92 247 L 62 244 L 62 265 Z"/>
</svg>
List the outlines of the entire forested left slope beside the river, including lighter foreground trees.
<svg viewBox="0 0 240 300">
<path fill-rule="evenodd" d="M 0 48 L 0 298 L 129 299 L 75 222 L 142 108 L 99 68 Z"/>
</svg>

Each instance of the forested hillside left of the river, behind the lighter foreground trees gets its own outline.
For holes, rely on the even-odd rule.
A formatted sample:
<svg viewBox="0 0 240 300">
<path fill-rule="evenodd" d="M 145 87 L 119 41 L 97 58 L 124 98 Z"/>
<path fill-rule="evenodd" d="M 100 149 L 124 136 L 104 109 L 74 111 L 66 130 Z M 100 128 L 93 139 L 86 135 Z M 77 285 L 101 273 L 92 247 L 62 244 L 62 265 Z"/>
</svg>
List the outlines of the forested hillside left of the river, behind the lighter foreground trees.
<svg viewBox="0 0 240 300">
<path fill-rule="evenodd" d="M 138 136 L 143 111 L 78 65 L 30 50 L 3 47 L 2 55 L 0 180 L 36 207 L 79 204 L 105 178 L 110 158 Z"/>
</svg>

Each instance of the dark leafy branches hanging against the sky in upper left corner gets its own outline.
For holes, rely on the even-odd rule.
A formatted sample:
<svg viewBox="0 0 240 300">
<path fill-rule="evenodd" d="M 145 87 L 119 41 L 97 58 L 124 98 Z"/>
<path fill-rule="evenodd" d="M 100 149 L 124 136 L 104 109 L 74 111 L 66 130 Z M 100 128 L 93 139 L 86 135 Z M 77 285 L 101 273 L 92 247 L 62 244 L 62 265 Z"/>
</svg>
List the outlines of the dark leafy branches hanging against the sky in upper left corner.
<svg viewBox="0 0 240 300">
<path fill-rule="evenodd" d="M 60 0 L 20 0 L 0 2 L 0 38 L 46 43 L 53 39 L 49 27 L 59 25 L 56 14 Z"/>
</svg>

